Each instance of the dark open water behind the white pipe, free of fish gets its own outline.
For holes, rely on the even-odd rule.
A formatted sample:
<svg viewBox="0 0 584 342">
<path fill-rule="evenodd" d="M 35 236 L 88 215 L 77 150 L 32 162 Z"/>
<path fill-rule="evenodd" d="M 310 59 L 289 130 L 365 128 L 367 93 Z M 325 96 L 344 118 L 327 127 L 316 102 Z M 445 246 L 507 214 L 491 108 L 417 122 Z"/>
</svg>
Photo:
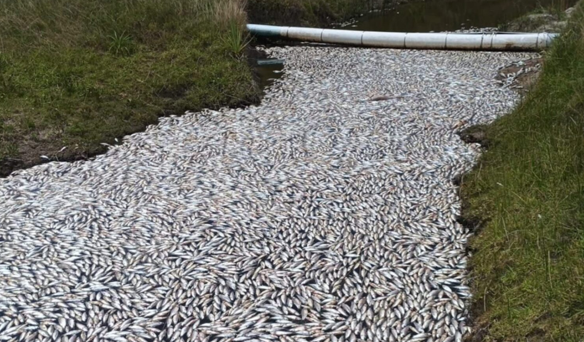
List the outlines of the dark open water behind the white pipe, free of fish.
<svg viewBox="0 0 584 342">
<path fill-rule="evenodd" d="M 576 0 L 427 0 L 367 13 L 349 30 L 442 32 L 470 27 L 498 27 L 538 8 L 566 8 Z"/>
</svg>

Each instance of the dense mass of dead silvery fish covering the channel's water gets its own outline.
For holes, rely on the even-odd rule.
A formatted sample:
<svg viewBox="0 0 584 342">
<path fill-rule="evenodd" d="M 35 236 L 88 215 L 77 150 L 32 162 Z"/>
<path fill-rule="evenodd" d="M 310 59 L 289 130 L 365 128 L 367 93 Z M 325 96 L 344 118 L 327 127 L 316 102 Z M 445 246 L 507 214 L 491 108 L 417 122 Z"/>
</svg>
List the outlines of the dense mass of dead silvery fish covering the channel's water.
<svg viewBox="0 0 584 342">
<path fill-rule="evenodd" d="M 460 341 L 456 134 L 530 54 L 272 48 L 259 106 L 0 179 L 1 341 Z"/>
</svg>

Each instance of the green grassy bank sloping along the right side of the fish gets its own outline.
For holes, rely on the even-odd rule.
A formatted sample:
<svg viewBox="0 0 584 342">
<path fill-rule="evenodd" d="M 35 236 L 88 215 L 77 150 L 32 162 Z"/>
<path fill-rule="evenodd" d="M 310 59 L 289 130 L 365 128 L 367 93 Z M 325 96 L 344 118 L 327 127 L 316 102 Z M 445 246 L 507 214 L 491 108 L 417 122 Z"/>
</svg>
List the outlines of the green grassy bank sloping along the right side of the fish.
<svg viewBox="0 0 584 342">
<path fill-rule="evenodd" d="M 489 150 L 463 183 L 476 340 L 584 338 L 584 14 L 545 57 L 540 81 L 486 128 Z"/>
</svg>

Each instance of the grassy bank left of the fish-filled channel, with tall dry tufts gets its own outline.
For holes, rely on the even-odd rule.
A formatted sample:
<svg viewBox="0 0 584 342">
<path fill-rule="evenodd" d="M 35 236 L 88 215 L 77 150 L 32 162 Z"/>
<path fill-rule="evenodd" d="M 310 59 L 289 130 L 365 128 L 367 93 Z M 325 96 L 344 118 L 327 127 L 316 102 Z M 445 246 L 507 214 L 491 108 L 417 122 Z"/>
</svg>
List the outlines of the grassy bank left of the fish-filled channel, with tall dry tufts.
<svg viewBox="0 0 584 342">
<path fill-rule="evenodd" d="M 0 160 L 100 152 L 159 116 L 258 95 L 239 0 L 12 0 L 0 13 Z"/>
</svg>

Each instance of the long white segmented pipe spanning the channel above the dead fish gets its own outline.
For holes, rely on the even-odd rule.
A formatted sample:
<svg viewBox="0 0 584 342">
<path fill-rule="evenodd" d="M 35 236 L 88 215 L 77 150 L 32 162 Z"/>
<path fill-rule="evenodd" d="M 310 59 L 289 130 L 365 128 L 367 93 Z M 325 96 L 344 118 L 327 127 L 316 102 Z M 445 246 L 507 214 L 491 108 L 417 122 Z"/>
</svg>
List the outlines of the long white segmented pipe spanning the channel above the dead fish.
<svg viewBox="0 0 584 342">
<path fill-rule="evenodd" d="M 256 36 L 279 37 L 317 43 L 388 48 L 440 50 L 541 50 L 551 45 L 555 33 L 405 33 L 312 29 L 310 27 L 248 24 Z"/>
</svg>

